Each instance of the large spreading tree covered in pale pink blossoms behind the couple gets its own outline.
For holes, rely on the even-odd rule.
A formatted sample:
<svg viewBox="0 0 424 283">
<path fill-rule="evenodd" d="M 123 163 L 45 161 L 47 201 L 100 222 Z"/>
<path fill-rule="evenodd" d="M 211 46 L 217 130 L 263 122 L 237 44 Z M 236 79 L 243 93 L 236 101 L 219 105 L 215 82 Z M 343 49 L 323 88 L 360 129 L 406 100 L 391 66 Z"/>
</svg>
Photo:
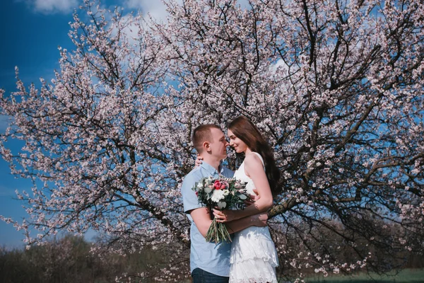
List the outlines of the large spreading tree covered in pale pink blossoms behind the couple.
<svg viewBox="0 0 424 283">
<path fill-rule="evenodd" d="M 154 23 L 87 1 L 90 21 L 74 17 L 56 78 L 0 92 L 13 117 L 1 155 L 38 180 L 19 193 L 31 219 L 16 226 L 40 231 L 28 243 L 87 229 L 122 251 L 174 243 L 161 276 L 181 276 L 192 129 L 246 115 L 283 175 L 270 211 L 283 272 L 384 271 L 402 250 L 423 250 L 420 1 L 167 7 Z M 25 141 L 20 152 L 11 139 Z"/>
</svg>

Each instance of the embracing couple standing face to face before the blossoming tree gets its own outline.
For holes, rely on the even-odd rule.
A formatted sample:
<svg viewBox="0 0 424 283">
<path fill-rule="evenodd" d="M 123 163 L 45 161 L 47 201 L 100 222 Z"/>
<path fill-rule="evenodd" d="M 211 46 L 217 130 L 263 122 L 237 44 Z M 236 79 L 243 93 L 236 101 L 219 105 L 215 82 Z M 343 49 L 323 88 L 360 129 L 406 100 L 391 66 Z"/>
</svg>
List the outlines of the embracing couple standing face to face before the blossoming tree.
<svg viewBox="0 0 424 283">
<path fill-rule="evenodd" d="M 278 255 L 266 226 L 266 211 L 278 193 L 278 168 L 269 144 L 257 127 L 240 116 L 228 125 L 228 138 L 219 126 L 209 124 L 196 127 L 192 141 L 201 163 L 182 183 L 184 212 L 192 222 L 190 230 L 190 271 L 193 282 L 277 282 Z M 240 168 L 233 173 L 220 165 L 227 157 L 227 146 L 245 154 Z M 201 178 L 243 180 L 254 202 L 242 210 L 216 210 L 213 214 L 233 233 L 232 243 L 212 243 L 205 240 L 211 226 L 211 213 L 198 202 L 192 187 Z"/>
</svg>

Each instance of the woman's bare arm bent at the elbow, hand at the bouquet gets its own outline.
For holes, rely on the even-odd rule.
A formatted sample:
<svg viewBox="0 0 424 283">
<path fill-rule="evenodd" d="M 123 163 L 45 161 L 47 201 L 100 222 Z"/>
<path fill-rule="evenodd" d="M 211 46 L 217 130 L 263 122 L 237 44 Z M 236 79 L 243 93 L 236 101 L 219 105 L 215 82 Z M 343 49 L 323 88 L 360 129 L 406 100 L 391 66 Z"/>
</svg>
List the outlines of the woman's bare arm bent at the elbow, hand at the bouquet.
<svg viewBox="0 0 424 283">
<path fill-rule="evenodd" d="M 259 200 L 249 205 L 245 209 L 240 210 L 223 210 L 213 209 L 213 214 L 220 222 L 228 222 L 251 216 L 261 212 L 266 212 L 273 204 L 271 188 L 264 171 L 262 161 L 256 154 L 249 154 L 245 158 L 245 173 L 252 179 L 254 187 L 257 189 Z"/>
</svg>

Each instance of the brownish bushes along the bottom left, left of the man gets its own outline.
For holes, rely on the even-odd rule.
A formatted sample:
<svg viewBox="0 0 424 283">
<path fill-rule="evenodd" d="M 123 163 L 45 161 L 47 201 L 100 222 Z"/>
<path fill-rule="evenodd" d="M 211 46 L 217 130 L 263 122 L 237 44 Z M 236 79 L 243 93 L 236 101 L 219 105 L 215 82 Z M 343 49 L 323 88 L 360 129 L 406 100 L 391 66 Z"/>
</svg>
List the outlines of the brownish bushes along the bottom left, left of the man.
<svg viewBox="0 0 424 283">
<path fill-rule="evenodd" d="M 64 236 L 28 250 L 1 247 L 0 282 L 106 283 L 126 282 L 128 276 L 133 277 L 131 282 L 152 282 L 151 276 L 160 272 L 165 260 L 161 250 L 152 248 L 117 255 L 106 250 L 92 252 L 96 246 L 80 236 Z M 148 274 L 142 277 L 143 272 Z"/>
</svg>

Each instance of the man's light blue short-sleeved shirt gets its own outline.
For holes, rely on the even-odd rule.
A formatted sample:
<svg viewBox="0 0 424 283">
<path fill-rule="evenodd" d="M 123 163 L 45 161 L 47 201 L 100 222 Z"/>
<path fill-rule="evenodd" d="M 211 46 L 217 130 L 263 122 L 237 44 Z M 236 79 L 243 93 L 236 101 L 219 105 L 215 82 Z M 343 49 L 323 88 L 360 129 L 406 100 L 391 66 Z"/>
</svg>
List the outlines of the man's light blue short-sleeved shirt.
<svg viewBox="0 0 424 283">
<path fill-rule="evenodd" d="M 231 243 L 210 243 L 206 242 L 204 236 L 197 229 L 196 224 L 192 219 L 189 212 L 193 209 L 203 207 L 199 204 L 196 193 L 192 190 L 196 182 L 201 178 L 212 176 L 218 178 L 223 175 L 227 178 L 232 178 L 234 172 L 230 169 L 220 166 L 220 173 L 216 171 L 211 165 L 203 161 L 200 166 L 194 168 L 182 182 L 182 202 L 184 204 L 184 212 L 192 222 L 190 229 L 190 241 L 192 242 L 190 248 L 190 272 L 194 269 L 200 268 L 214 275 L 230 276 L 230 250 Z"/>
</svg>

